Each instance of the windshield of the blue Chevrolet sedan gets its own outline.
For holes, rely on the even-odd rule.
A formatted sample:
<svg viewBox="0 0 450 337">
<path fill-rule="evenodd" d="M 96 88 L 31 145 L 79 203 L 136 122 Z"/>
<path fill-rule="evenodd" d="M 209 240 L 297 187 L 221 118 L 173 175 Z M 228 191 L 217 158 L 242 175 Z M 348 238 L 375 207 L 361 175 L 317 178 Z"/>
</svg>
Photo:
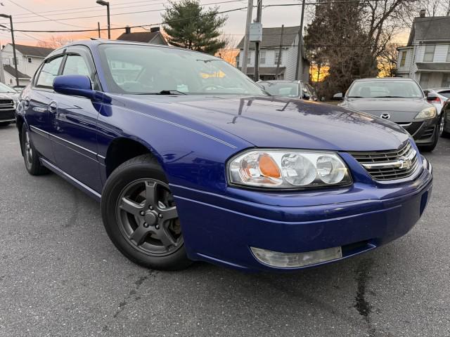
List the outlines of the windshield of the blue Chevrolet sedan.
<svg viewBox="0 0 450 337">
<path fill-rule="evenodd" d="M 99 49 L 115 93 L 266 95 L 235 67 L 204 53 L 130 44 Z"/>
</svg>

